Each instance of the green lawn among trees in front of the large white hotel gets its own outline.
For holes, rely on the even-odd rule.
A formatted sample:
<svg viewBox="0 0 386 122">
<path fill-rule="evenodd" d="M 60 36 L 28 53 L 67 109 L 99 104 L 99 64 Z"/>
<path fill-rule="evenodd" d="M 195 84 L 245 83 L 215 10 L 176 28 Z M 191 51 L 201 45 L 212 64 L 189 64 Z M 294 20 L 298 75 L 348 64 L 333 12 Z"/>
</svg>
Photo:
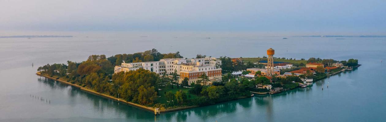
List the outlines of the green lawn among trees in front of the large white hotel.
<svg viewBox="0 0 386 122">
<path fill-rule="evenodd" d="M 170 87 L 163 87 L 163 88 L 160 88 L 160 89 L 162 89 L 162 90 L 159 90 L 159 91 L 158 91 L 158 96 L 161 96 L 161 97 L 158 97 L 158 98 L 157 98 L 157 103 L 166 104 L 167 102 L 166 102 L 165 92 L 171 91 L 171 92 L 173 92 L 174 94 L 176 94 L 176 92 L 177 92 L 178 90 L 180 90 L 180 89 L 183 90 L 184 92 L 186 92 L 186 94 L 188 95 L 188 99 L 195 99 L 195 98 L 197 98 L 197 96 L 196 96 L 195 94 L 190 94 L 190 93 L 189 93 L 189 89 L 191 89 L 191 88 L 183 88 L 183 87 L 177 88 L 176 85 L 174 85 L 173 88 L 174 88 L 174 89 L 171 89 Z M 189 97 L 189 96 L 190 96 L 190 97 Z"/>
</svg>

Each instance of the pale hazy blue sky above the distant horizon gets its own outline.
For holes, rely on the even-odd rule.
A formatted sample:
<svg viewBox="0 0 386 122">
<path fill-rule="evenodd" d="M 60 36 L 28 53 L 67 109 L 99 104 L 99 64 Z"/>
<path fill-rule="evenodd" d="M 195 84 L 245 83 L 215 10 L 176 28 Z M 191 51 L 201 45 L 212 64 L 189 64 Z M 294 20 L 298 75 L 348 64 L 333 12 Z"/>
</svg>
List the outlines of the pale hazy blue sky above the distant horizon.
<svg viewBox="0 0 386 122">
<path fill-rule="evenodd" d="M 386 0 L 0 0 L 2 31 L 385 35 Z"/>
</svg>

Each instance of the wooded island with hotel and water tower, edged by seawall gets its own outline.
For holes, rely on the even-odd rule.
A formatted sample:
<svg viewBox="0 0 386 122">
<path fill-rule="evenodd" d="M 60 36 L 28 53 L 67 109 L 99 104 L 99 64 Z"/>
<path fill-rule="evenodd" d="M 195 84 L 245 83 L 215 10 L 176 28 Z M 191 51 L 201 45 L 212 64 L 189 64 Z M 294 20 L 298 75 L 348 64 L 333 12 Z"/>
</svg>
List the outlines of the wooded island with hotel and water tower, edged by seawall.
<svg viewBox="0 0 386 122">
<path fill-rule="evenodd" d="M 201 54 L 184 58 L 179 52 L 152 49 L 47 64 L 37 69 L 37 75 L 159 114 L 307 87 L 310 79 L 317 81 L 358 66 L 355 59 L 296 60 L 273 57 L 273 53 L 262 58 Z"/>
</svg>

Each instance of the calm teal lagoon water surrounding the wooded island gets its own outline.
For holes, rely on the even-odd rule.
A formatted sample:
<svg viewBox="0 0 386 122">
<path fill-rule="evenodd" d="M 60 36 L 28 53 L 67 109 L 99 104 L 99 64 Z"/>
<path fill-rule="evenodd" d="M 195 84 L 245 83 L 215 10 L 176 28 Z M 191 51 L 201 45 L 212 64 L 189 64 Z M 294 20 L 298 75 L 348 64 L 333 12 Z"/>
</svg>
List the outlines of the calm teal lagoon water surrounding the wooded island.
<svg viewBox="0 0 386 122">
<path fill-rule="evenodd" d="M 386 67 L 385 62 L 381 63 L 386 57 L 386 38 L 85 36 L 90 35 L 0 38 L 1 122 L 381 122 L 386 119 Z M 190 48 L 200 45 L 203 48 Z M 189 58 L 197 53 L 213 57 L 262 57 L 269 47 L 275 49 L 276 57 L 357 58 L 362 66 L 314 82 L 305 89 L 255 95 L 156 117 L 152 112 L 35 75 L 41 65 L 67 60 L 79 62 L 91 54 L 109 56 L 157 48 L 162 53 L 179 51 Z"/>
</svg>

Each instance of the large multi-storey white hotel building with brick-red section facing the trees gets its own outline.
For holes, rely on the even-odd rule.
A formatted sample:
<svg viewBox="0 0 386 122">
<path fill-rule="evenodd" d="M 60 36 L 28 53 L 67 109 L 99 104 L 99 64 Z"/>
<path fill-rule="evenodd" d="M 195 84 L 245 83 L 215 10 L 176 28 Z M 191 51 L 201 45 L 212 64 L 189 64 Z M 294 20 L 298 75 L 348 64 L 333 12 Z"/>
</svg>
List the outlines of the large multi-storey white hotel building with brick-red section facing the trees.
<svg viewBox="0 0 386 122">
<path fill-rule="evenodd" d="M 122 63 L 120 66 L 115 66 L 114 72 L 128 72 L 142 68 L 159 75 L 164 75 L 165 71 L 166 74 L 171 74 L 174 70 L 177 70 L 177 73 L 180 75 L 179 83 L 187 77 L 190 84 L 200 80 L 198 77 L 204 72 L 211 82 L 221 81 L 221 68 L 217 68 L 216 65 L 221 65 L 221 60 L 212 57 L 191 59 L 166 58 L 154 62 Z"/>
</svg>

